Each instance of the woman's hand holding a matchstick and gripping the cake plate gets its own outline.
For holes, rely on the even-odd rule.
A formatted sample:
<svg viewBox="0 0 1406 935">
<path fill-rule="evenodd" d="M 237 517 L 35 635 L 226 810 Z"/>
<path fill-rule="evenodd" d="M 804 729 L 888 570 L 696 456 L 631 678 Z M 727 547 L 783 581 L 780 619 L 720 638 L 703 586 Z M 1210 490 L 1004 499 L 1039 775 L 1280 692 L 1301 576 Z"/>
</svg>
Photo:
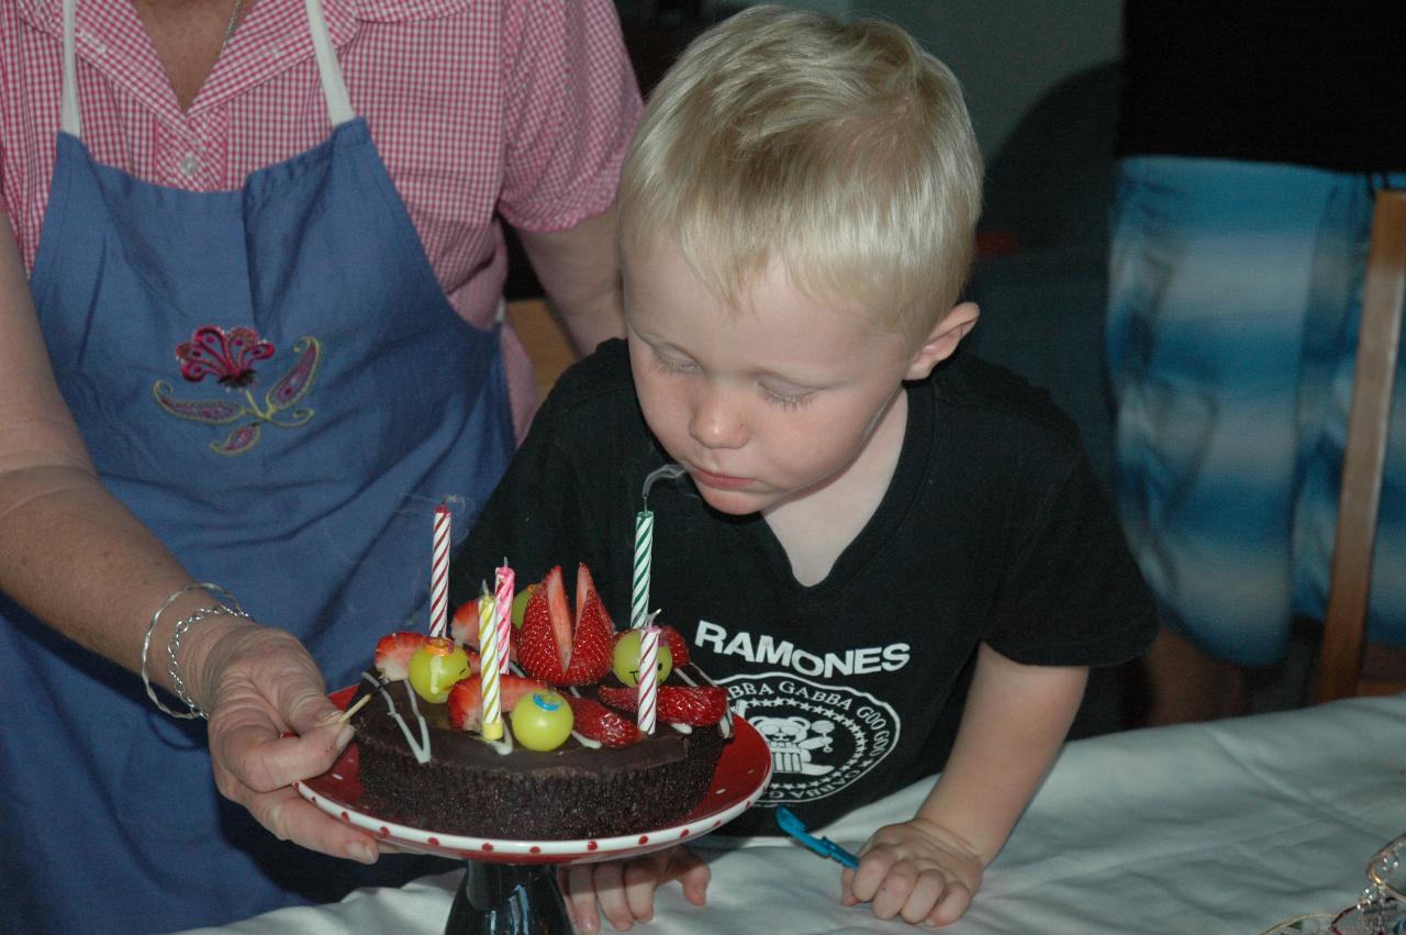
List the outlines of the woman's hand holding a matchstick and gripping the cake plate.
<svg viewBox="0 0 1406 935">
<path fill-rule="evenodd" d="M 326 772 L 353 734 L 350 724 L 337 723 L 342 713 L 302 644 L 284 630 L 224 620 L 207 621 L 187 640 L 195 643 L 188 658 L 200 658 L 197 697 L 209 711 L 221 794 L 280 839 L 374 863 L 374 838 L 322 813 L 291 786 Z"/>
</svg>

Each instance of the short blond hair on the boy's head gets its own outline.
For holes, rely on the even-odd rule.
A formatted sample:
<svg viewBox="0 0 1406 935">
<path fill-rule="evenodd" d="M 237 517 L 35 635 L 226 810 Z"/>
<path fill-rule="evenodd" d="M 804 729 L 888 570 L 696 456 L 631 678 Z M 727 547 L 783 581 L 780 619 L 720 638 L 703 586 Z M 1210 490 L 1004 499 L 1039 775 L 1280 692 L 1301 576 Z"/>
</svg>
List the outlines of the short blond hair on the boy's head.
<svg viewBox="0 0 1406 935">
<path fill-rule="evenodd" d="M 754 7 L 665 75 L 619 201 L 626 252 L 676 236 L 734 305 L 779 262 L 813 298 L 925 333 L 970 269 L 981 156 L 956 77 L 898 27 Z"/>
</svg>

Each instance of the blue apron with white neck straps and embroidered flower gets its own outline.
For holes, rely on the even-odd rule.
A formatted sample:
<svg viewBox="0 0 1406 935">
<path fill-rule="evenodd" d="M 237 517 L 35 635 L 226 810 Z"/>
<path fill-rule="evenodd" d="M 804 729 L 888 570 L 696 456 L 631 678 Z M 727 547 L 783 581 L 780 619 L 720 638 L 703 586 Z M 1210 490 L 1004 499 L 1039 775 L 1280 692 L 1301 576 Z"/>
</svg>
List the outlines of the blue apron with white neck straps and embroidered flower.
<svg viewBox="0 0 1406 935">
<path fill-rule="evenodd" d="M 104 484 L 194 579 L 349 685 L 377 637 L 427 626 L 434 506 L 467 530 L 508 464 L 498 333 L 440 291 L 318 0 L 332 135 L 219 193 L 93 162 L 69 79 L 73 1 L 31 277 L 63 398 Z M 202 723 L 159 714 L 136 676 L 13 603 L 0 614 L 8 931 L 209 925 L 427 869 L 276 841 L 217 793 Z"/>
</svg>

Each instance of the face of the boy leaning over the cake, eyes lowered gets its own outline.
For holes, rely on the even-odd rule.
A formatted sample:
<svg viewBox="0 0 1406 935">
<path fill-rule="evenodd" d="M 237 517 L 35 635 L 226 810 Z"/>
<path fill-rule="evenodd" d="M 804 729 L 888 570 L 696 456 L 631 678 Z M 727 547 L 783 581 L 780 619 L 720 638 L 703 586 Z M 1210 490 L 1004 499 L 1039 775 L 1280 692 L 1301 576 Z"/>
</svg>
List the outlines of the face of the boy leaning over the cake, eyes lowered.
<svg viewBox="0 0 1406 935">
<path fill-rule="evenodd" d="M 623 266 L 645 422 L 724 513 L 765 512 L 842 479 L 893 418 L 903 380 L 925 377 L 966 330 L 915 349 L 862 309 L 808 298 L 779 264 L 731 309 L 675 245 Z"/>
</svg>

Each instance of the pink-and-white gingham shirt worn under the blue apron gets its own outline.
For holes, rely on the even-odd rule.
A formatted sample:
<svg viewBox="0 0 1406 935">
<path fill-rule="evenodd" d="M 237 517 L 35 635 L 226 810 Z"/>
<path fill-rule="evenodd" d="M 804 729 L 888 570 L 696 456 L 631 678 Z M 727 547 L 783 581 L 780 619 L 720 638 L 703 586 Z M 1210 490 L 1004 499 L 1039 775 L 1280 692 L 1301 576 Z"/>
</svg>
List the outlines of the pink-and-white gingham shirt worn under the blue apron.
<svg viewBox="0 0 1406 935">
<path fill-rule="evenodd" d="M 494 321 L 508 256 L 495 212 L 530 231 L 603 211 L 640 96 L 609 0 L 323 0 L 366 117 L 450 304 Z M 60 0 L 0 3 L 0 193 L 28 269 L 53 173 Z M 197 191 L 238 188 L 330 132 L 304 0 L 257 0 L 183 112 L 131 0 L 79 0 L 83 141 L 104 165 Z M 519 433 L 531 366 L 503 340 Z"/>
</svg>

